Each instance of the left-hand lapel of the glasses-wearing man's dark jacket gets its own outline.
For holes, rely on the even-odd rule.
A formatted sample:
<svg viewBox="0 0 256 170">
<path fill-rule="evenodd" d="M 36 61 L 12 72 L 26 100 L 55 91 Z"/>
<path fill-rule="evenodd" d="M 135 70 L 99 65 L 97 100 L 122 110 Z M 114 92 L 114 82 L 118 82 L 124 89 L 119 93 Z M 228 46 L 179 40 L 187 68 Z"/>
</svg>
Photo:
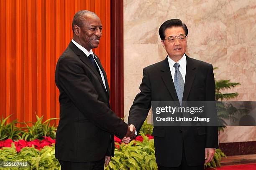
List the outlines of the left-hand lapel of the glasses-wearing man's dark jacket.
<svg viewBox="0 0 256 170">
<path fill-rule="evenodd" d="M 166 85 L 166 88 L 170 92 L 173 100 L 174 101 L 179 101 L 178 96 L 177 96 L 177 92 L 176 92 L 175 87 L 174 87 L 174 82 L 172 80 L 172 74 L 171 74 L 171 71 L 170 71 L 169 62 L 168 62 L 167 57 L 163 61 L 163 66 L 161 67 L 160 71 L 161 71 L 162 80 L 164 81 L 164 84 Z"/>
</svg>

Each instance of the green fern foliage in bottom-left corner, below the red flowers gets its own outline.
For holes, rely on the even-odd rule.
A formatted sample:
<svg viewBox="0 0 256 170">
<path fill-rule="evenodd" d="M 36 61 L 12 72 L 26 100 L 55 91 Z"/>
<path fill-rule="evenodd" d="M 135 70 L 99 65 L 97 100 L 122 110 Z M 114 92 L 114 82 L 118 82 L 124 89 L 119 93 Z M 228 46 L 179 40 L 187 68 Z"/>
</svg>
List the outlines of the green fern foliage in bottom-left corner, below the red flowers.
<svg viewBox="0 0 256 170">
<path fill-rule="evenodd" d="M 26 147 L 17 153 L 14 143 L 12 147 L 3 148 L 0 152 L 0 161 L 28 162 L 30 167 L 24 170 L 60 170 L 59 161 L 54 155 L 55 146 L 45 146 L 42 150 Z M 18 168 L 4 168 L 5 170 L 18 170 Z"/>
</svg>

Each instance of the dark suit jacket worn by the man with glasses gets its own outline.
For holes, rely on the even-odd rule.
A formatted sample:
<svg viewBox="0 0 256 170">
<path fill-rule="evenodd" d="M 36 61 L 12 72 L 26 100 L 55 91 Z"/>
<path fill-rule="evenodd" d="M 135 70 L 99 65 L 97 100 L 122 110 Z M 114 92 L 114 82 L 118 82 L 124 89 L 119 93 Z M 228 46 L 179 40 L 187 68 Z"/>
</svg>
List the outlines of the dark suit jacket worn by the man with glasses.
<svg viewBox="0 0 256 170">
<path fill-rule="evenodd" d="M 187 68 L 183 101 L 215 100 L 215 82 L 212 65 L 186 55 Z M 151 107 L 151 101 L 179 101 L 172 80 L 168 59 L 143 69 L 141 92 L 131 106 L 128 125 L 140 130 Z M 156 163 L 177 167 L 182 160 L 182 148 L 188 165 L 205 162 L 205 148 L 218 148 L 218 127 L 209 126 L 154 126 Z"/>
</svg>

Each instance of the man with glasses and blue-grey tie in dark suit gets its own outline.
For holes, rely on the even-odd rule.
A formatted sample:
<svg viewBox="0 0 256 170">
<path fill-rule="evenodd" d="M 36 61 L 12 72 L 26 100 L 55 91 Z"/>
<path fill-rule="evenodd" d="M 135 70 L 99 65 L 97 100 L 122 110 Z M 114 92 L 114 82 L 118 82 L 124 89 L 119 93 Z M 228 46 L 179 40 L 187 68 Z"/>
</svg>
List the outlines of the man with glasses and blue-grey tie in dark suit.
<svg viewBox="0 0 256 170">
<path fill-rule="evenodd" d="M 187 26 L 172 19 L 159 28 L 165 60 L 143 69 L 141 92 L 131 106 L 128 125 L 140 130 L 151 101 L 214 101 L 212 65 L 188 57 Z M 203 170 L 218 148 L 217 126 L 154 126 L 156 163 L 160 170 Z M 127 143 L 124 138 L 123 142 Z"/>
</svg>

